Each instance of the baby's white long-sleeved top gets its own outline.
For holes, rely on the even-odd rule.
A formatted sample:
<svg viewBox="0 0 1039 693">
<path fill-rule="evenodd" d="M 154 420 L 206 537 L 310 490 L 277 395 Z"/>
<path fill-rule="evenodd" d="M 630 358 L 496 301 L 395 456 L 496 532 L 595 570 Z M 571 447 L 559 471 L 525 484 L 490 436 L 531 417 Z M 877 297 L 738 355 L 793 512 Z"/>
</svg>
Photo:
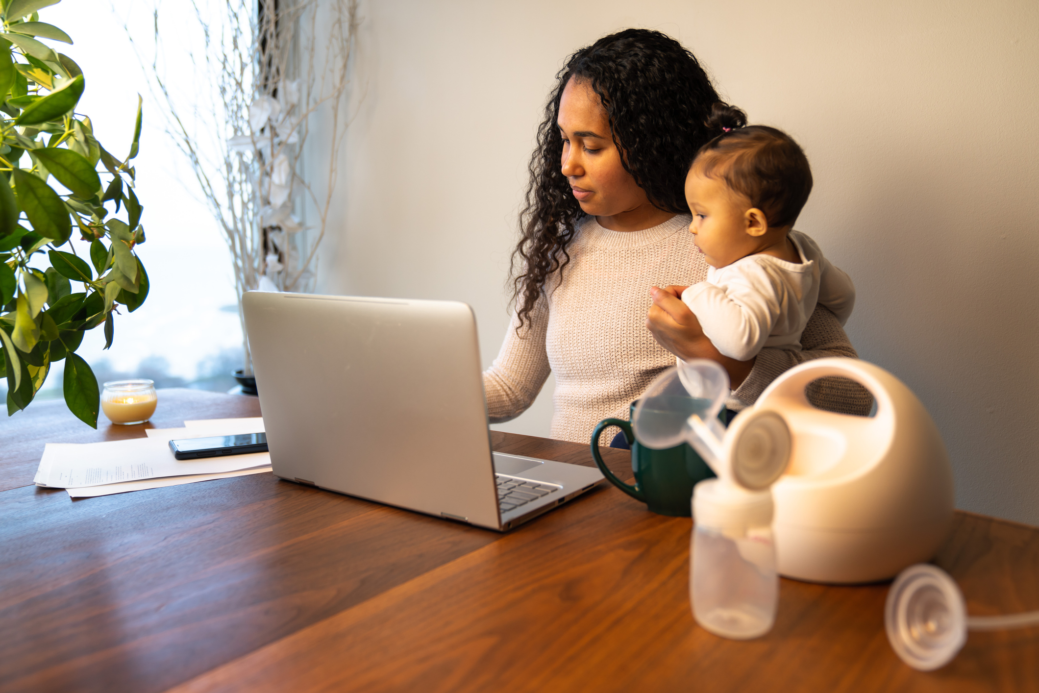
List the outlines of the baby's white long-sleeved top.
<svg viewBox="0 0 1039 693">
<path fill-rule="evenodd" d="M 811 238 L 790 232 L 800 264 L 767 255 L 742 258 L 708 269 L 682 300 L 696 315 L 718 351 L 737 361 L 753 358 L 765 347 L 801 350 L 801 332 L 822 303 L 843 326 L 855 305 L 851 278 L 830 263 Z"/>
</svg>

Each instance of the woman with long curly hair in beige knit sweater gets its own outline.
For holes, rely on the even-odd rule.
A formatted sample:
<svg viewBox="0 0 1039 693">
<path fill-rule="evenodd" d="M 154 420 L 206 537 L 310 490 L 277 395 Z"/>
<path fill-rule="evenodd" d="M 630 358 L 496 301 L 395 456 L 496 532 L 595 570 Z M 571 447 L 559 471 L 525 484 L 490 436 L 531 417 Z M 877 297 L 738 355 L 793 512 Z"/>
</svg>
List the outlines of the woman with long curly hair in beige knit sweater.
<svg viewBox="0 0 1039 693">
<path fill-rule="evenodd" d="M 764 349 L 755 361 L 734 362 L 676 298 L 678 288 L 707 274 L 688 232 L 684 185 L 693 156 L 713 136 L 704 123 L 719 101 L 689 51 L 660 32 L 628 29 L 571 55 L 557 80 L 513 252 L 515 316 L 483 374 L 491 422 L 522 414 L 550 372 L 552 436 L 586 443 L 602 419 L 627 418 L 673 354 L 722 364 L 735 409 L 797 363 L 856 355 L 833 314 L 820 308 L 802 351 Z M 668 287 L 654 290 L 652 305 L 650 287 Z M 837 410 L 870 406 L 864 391 L 840 383 L 815 400 Z"/>
</svg>

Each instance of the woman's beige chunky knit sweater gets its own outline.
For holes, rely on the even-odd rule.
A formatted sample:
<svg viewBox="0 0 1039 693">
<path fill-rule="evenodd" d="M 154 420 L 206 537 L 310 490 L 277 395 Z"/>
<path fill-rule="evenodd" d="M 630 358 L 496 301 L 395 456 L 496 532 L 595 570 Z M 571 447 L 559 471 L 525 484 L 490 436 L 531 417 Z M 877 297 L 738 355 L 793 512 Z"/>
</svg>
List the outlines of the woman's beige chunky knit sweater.
<svg viewBox="0 0 1039 693">
<path fill-rule="evenodd" d="M 631 402 L 674 365 L 674 356 L 645 327 L 649 288 L 690 285 L 707 276 L 689 222 L 688 215 L 678 215 L 637 232 L 604 229 L 594 217 L 579 223 L 561 277 L 547 285 L 518 334 L 513 318 L 498 358 L 483 374 L 492 423 L 523 414 L 550 372 L 556 374 L 552 437 L 588 443 L 603 419 L 628 420 Z M 729 406 L 752 404 L 776 376 L 803 361 L 856 355 L 824 308 L 808 320 L 801 344 L 801 351 L 763 349 Z M 816 390 L 811 399 L 826 408 L 864 414 L 872 404 L 869 394 L 850 381 L 833 380 Z"/>
</svg>

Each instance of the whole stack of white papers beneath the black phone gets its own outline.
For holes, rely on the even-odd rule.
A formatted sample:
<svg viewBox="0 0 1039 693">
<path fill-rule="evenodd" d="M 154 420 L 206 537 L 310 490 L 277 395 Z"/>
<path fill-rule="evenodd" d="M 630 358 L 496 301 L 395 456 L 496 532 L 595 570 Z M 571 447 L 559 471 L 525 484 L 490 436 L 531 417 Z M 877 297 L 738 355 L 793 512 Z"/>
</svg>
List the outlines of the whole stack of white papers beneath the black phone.
<svg viewBox="0 0 1039 693">
<path fill-rule="evenodd" d="M 148 437 L 107 443 L 48 443 L 34 482 L 64 488 L 72 498 L 270 472 L 266 452 L 180 460 L 169 441 L 264 432 L 263 419 L 186 421 L 184 428 L 146 429 Z"/>
</svg>

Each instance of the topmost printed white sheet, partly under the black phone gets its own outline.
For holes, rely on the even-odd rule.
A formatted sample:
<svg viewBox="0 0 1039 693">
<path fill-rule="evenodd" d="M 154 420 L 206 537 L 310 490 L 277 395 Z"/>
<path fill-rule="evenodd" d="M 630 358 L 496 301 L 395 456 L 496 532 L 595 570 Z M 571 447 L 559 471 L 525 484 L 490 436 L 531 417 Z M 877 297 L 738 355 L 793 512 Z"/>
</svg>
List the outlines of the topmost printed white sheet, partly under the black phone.
<svg viewBox="0 0 1039 693">
<path fill-rule="evenodd" d="M 41 486 L 76 488 L 269 465 L 266 452 L 180 460 L 174 457 L 164 435 L 106 443 L 48 443 L 34 481 Z"/>
</svg>

